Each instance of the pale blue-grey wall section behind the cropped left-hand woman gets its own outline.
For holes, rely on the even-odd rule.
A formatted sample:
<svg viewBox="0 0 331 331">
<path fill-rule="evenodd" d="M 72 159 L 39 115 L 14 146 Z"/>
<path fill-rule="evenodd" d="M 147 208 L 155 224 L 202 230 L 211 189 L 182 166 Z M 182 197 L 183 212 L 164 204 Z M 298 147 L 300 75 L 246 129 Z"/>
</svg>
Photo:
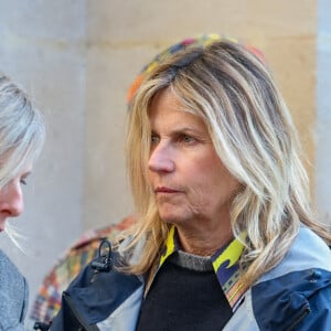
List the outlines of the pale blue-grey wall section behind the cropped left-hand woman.
<svg viewBox="0 0 331 331">
<path fill-rule="evenodd" d="M 10 221 L 24 236 L 23 253 L 0 239 L 26 276 L 32 301 L 83 231 L 86 3 L 1 0 L 0 8 L 0 70 L 33 96 L 47 126 L 44 152 L 24 188 L 25 213 Z"/>
</svg>

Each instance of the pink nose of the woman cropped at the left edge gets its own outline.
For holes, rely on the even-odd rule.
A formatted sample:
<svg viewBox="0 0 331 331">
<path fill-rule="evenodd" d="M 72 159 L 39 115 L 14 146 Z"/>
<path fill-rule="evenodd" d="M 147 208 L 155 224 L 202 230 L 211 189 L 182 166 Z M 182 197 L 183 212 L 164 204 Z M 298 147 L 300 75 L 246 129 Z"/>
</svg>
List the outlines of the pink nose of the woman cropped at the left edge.
<svg viewBox="0 0 331 331">
<path fill-rule="evenodd" d="M 0 212 L 8 217 L 21 215 L 24 201 L 20 182 L 10 182 L 0 191 Z"/>
</svg>

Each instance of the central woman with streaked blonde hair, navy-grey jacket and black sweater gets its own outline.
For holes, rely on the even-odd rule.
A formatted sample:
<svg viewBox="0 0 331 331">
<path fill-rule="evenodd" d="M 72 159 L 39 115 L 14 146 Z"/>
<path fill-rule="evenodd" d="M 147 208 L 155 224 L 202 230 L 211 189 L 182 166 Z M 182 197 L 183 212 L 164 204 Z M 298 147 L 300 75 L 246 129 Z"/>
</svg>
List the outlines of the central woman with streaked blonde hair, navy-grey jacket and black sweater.
<svg viewBox="0 0 331 331">
<path fill-rule="evenodd" d="M 52 330 L 331 328 L 331 235 L 258 50 L 209 34 L 160 53 L 129 92 L 126 152 L 137 224 Z"/>
</svg>

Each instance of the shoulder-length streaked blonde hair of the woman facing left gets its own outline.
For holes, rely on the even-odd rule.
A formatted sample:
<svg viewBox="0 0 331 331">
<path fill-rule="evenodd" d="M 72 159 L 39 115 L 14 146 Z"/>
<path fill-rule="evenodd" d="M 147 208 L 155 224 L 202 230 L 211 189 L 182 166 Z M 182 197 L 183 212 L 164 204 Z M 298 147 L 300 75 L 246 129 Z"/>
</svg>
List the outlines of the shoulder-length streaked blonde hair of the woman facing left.
<svg viewBox="0 0 331 331">
<path fill-rule="evenodd" d="M 331 242 L 312 221 L 297 132 L 268 68 L 246 46 L 218 39 L 169 54 L 146 74 L 130 100 L 126 154 L 139 220 L 131 246 L 142 238 L 146 245 L 129 271 L 149 270 L 168 235 L 147 173 L 148 111 L 164 88 L 204 120 L 220 159 L 242 183 L 231 222 L 235 237 L 247 235 L 241 258 L 249 266 L 244 275 L 247 285 L 284 258 L 301 224 Z"/>
</svg>

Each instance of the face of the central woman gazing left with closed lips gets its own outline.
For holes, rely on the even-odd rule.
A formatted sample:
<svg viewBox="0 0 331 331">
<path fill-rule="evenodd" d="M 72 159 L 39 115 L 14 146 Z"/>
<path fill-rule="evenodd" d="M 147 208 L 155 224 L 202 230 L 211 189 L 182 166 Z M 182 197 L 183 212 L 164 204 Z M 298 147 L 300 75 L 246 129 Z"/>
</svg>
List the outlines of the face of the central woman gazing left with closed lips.
<svg viewBox="0 0 331 331">
<path fill-rule="evenodd" d="M 195 227 L 229 224 L 239 183 L 217 157 L 202 119 L 183 109 L 168 89 L 151 103 L 148 168 L 160 217 Z"/>
</svg>

